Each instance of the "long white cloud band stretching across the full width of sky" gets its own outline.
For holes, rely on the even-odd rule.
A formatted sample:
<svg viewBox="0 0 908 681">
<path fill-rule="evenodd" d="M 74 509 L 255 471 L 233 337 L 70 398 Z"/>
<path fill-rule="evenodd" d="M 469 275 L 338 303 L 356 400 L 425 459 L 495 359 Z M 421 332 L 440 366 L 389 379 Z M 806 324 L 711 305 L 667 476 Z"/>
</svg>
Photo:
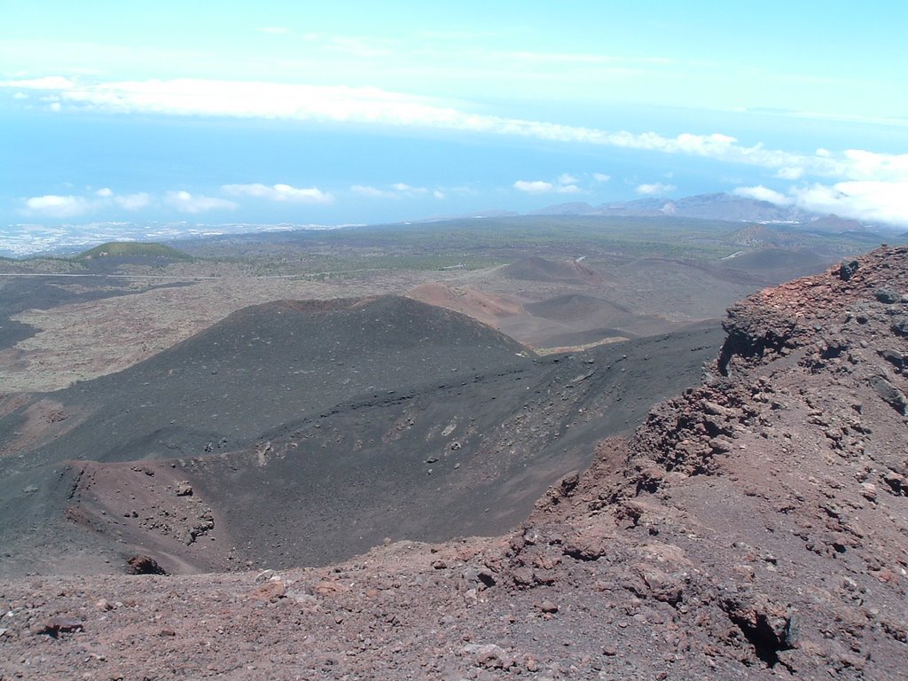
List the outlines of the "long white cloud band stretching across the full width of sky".
<svg viewBox="0 0 908 681">
<path fill-rule="evenodd" d="M 274 118 L 317 123 L 419 126 L 470 133 L 531 137 L 562 143 L 677 153 L 771 169 L 784 179 L 804 174 L 847 181 L 908 180 L 908 154 L 847 150 L 812 154 L 746 146 L 723 133 L 609 132 L 463 111 L 447 102 L 375 87 L 222 81 L 192 78 L 101 82 L 59 75 L 0 81 L 0 88 L 39 91 L 54 104 L 119 114 Z M 569 183 L 568 183 L 569 184 Z"/>
</svg>

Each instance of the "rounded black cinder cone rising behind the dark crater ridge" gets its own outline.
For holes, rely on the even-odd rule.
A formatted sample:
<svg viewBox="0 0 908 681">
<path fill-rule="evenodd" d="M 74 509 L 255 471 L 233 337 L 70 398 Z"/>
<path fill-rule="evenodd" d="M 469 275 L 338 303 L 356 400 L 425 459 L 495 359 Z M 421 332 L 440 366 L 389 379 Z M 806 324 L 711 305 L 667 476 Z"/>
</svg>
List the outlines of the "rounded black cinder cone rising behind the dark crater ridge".
<svg viewBox="0 0 908 681">
<path fill-rule="evenodd" d="M 125 461 L 202 454 L 210 442 L 243 447 L 347 400 L 528 363 L 519 353 L 527 349 L 508 336 L 408 298 L 265 303 L 54 393 L 92 416 L 44 452 Z"/>
</svg>

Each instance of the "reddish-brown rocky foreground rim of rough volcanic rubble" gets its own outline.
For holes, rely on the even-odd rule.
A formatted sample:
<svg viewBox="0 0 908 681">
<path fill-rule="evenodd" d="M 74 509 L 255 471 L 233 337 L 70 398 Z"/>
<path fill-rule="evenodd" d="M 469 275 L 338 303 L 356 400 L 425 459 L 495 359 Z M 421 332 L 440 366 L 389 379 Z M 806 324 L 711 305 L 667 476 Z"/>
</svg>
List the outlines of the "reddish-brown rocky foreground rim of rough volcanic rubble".
<svg viewBox="0 0 908 681">
<path fill-rule="evenodd" d="M 0 679 L 902 677 L 908 248 L 757 293 L 725 329 L 708 383 L 507 537 L 5 581 Z"/>
</svg>

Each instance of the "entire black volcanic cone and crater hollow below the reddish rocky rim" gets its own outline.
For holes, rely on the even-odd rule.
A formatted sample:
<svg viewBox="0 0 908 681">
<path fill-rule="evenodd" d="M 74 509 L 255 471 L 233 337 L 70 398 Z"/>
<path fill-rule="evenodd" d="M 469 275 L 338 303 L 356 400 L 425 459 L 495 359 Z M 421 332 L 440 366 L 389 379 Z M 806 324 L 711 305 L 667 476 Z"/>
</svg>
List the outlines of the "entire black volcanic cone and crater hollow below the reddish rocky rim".
<svg viewBox="0 0 908 681">
<path fill-rule="evenodd" d="M 117 571 L 137 551 L 171 570 L 316 564 L 498 532 L 699 380 L 719 342 L 704 327 L 540 359 L 405 298 L 238 311 L 129 370 L 7 402 L 0 574 Z"/>
</svg>

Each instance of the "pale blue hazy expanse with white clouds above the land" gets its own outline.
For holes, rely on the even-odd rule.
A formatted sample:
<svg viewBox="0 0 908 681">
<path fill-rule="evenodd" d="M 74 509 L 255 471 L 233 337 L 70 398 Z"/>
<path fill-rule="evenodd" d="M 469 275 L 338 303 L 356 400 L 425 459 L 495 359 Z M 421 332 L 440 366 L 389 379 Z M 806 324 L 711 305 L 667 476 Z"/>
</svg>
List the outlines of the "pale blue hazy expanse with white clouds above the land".
<svg viewBox="0 0 908 681">
<path fill-rule="evenodd" d="M 908 226 L 903 2 L 0 15 L 0 254 L 706 192 Z"/>
</svg>

